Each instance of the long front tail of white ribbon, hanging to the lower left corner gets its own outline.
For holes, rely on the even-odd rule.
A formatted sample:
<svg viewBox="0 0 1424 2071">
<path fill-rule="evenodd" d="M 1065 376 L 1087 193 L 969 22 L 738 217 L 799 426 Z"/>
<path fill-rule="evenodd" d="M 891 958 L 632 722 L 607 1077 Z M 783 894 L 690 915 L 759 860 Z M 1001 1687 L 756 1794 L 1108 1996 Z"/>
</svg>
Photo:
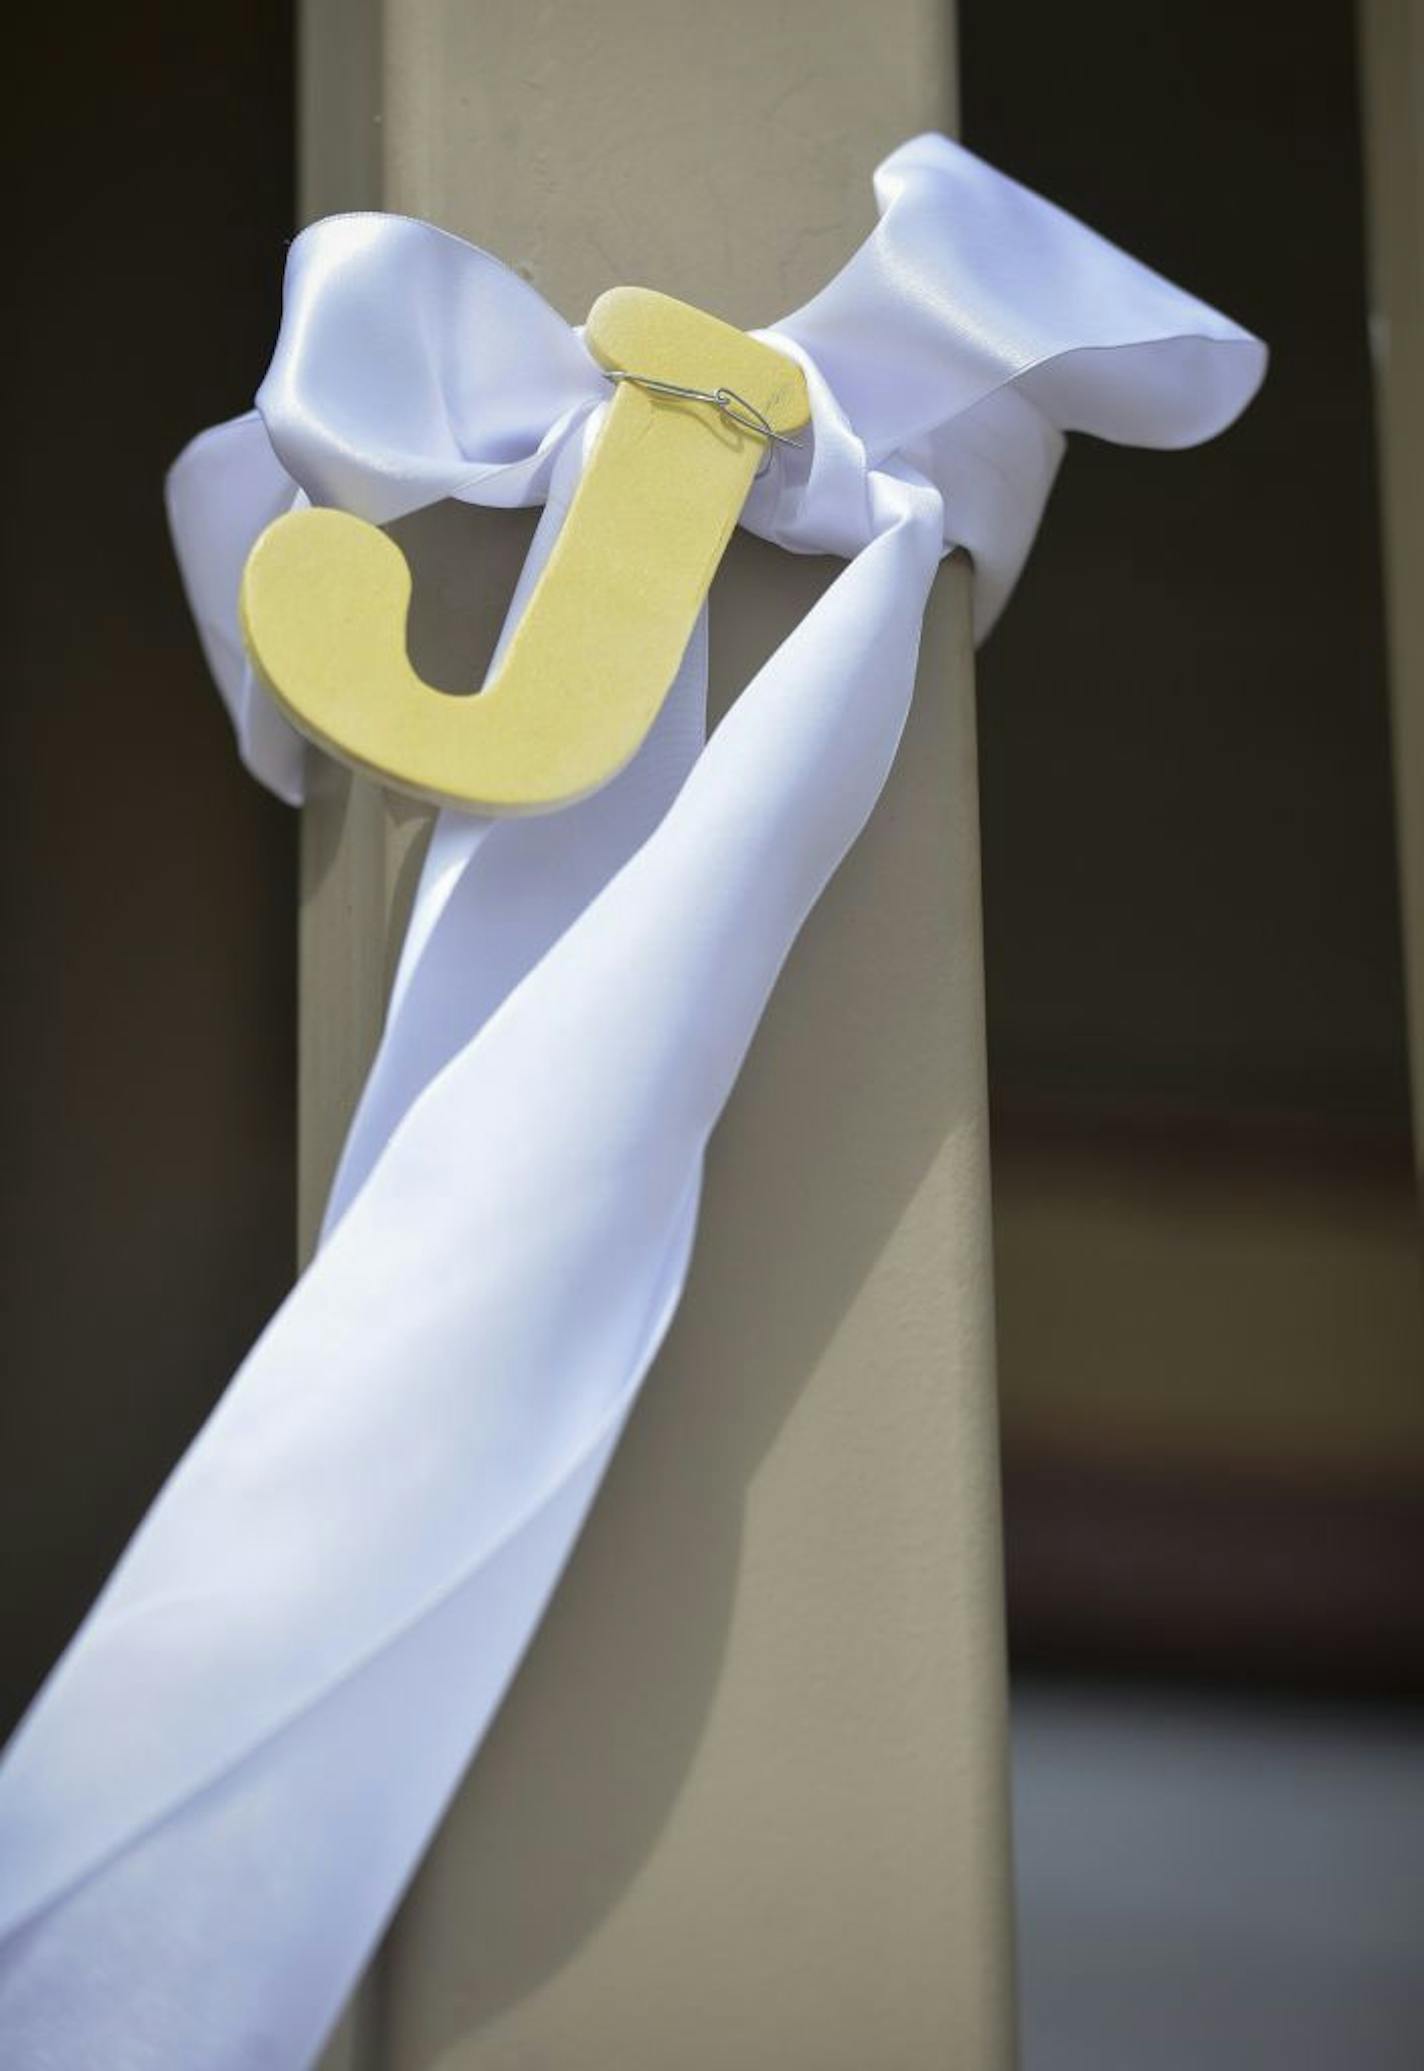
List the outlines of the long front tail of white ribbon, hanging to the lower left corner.
<svg viewBox="0 0 1424 2071">
<path fill-rule="evenodd" d="M 215 2034 L 221 2063 L 302 2063 L 335 2017 L 567 1557 L 677 1307 L 706 1137 L 890 768 L 940 509 L 878 501 L 656 833 L 410 1108 L 17 1738 L 21 2063 L 83 2061 L 116 1972 L 155 2063 Z M 99 1717 L 126 1727 L 85 1748 Z"/>
</svg>

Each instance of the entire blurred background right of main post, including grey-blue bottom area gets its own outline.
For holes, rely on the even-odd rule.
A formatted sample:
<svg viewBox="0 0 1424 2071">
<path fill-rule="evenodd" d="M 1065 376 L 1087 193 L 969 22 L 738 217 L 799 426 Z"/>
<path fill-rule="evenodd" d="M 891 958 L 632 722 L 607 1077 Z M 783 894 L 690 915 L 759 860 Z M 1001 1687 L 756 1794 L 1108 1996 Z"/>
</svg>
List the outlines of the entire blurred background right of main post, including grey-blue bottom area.
<svg viewBox="0 0 1424 2071">
<path fill-rule="evenodd" d="M 1356 35 L 960 0 L 967 143 L 1273 352 L 1200 451 L 1074 445 L 979 669 L 1029 2071 L 1424 2063 Z"/>
</svg>

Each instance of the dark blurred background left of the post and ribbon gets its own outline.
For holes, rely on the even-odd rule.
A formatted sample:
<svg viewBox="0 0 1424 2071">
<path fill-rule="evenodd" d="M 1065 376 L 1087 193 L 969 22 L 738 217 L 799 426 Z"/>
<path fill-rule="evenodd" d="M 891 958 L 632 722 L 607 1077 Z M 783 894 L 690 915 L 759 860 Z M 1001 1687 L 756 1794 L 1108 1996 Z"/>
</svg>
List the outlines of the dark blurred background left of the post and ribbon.
<svg viewBox="0 0 1424 2071">
<path fill-rule="evenodd" d="M 296 1154 L 296 824 L 238 768 L 164 520 L 271 352 L 290 8 L 8 37 L 4 1725 L 290 1286 Z"/>
</svg>

